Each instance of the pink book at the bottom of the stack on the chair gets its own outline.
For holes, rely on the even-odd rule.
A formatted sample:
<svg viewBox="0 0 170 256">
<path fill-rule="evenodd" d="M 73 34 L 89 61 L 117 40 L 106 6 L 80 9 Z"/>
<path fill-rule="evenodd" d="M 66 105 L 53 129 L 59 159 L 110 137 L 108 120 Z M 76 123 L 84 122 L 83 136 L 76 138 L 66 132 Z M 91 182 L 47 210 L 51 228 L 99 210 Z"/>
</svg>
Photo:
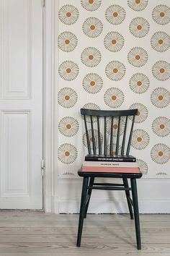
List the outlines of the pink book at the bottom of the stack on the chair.
<svg viewBox="0 0 170 256">
<path fill-rule="evenodd" d="M 139 174 L 138 167 L 102 167 L 102 166 L 83 166 L 82 171 L 89 172 L 108 172 L 108 173 L 128 173 L 128 174 Z"/>
</svg>

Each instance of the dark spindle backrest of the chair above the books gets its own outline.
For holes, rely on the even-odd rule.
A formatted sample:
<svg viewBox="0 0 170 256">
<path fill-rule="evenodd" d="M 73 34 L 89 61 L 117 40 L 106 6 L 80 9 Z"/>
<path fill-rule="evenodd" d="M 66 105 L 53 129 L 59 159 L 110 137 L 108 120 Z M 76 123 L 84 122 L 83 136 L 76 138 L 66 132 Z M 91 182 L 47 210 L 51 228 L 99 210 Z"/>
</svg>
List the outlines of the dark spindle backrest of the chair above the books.
<svg viewBox="0 0 170 256">
<path fill-rule="evenodd" d="M 81 108 L 89 155 L 129 155 L 136 114 L 138 109 L 105 111 Z"/>
</svg>

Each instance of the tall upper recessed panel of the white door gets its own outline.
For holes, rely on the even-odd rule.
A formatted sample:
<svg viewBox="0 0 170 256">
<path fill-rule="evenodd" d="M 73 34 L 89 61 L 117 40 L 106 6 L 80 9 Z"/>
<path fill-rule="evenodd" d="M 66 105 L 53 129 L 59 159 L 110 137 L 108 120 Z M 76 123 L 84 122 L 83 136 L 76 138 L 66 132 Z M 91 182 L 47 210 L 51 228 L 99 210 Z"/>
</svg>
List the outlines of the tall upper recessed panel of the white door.
<svg viewBox="0 0 170 256">
<path fill-rule="evenodd" d="M 31 1 L 1 1 L 3 98 L 29 98 L 30 95 L 30 15 Z"/>
</svg>

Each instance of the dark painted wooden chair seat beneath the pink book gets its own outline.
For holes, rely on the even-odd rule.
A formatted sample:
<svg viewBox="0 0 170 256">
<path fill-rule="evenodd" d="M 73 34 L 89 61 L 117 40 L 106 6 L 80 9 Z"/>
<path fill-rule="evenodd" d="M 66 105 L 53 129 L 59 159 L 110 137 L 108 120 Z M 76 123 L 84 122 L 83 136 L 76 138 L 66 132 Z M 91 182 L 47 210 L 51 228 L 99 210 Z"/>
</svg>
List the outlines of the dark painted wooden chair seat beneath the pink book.
<svg viewBox="0 0 170 256">
<path fill-rule="evenodd" d="M 79 169 L 78 171 L 78 174 L 79 176 L 81 177 L 105 177 L 105 178 L 130 178 L 130 179 L 140 179 L 141 176 L 143 175 L 141 173 L 141 171 L 138 169 L 138 171 L 136 172 L 129 172 L 128 171 L 125 171 L 125 172 L 122 172 L 122 171 L 115 171 L 115 169 L 118 169 L 118 168 L 115 168 L 115 167 L 112 167 L 112 171 L 95 171 L 95 168 L 94 166 L 92 167 L 93 168 L 93 171 L 83 171 L 82 168 Z M 120 168 L 122 169 L 122 168 Z M 131 169 L 132 168 L 128 168 L 128 169 Z"/>
</svg>

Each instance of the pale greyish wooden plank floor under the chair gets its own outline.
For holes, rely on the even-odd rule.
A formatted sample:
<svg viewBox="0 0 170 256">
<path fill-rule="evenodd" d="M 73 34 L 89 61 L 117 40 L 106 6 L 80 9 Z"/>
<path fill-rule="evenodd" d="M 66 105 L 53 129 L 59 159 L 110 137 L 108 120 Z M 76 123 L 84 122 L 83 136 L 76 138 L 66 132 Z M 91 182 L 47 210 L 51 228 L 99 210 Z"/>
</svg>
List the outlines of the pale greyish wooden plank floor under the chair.
<svg viewBox="0 0 170 256">
<path fill-rule="evenodd" d="M 128 214 L 90 214 L 76 247 L 79 215 L 0 210 L 0 255 L 170 255 L 170 215 L 140 215 L 142 250 Z"/>
</svg>

